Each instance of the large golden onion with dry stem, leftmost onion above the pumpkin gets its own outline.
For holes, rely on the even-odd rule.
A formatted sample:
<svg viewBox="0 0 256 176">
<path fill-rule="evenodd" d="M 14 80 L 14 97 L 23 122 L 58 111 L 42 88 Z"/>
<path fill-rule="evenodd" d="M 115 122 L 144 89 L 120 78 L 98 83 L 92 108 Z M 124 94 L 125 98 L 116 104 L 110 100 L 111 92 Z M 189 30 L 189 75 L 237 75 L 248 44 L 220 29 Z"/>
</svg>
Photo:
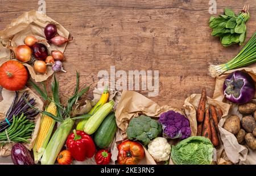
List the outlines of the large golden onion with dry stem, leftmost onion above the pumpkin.
<svg viewBox="0 0 256 176">
<path fill-rule="evenodd" d="M 14 52 L 14 55 L 20 62 L 28 62 L 31 60 L 32 50 L 27 45 L 19 45 L 18 47 L 7 46 Z"/>
</svg>

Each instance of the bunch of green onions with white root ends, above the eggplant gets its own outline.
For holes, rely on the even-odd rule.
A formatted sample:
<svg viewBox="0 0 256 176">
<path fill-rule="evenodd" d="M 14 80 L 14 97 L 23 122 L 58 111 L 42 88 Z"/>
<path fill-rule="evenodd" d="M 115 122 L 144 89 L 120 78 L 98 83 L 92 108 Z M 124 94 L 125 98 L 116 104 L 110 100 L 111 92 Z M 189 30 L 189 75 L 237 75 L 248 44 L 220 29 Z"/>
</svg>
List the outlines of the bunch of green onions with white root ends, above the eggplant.
<svg viewBox="0 0 256 176">
<path fill-rule="evenodd" d="M 251 37 L 251 39 L 247 42 L 245 47 L 238 53 L 236 57 L 234 57 L 226 64 L 221 65 L 210 65 L 209 66 L 209 75 L 213 78 L 220 76 L 222 73 L 241 68 L 243 66 L 247 66 L 256 62 L 256 32 Z"/>
</svg>

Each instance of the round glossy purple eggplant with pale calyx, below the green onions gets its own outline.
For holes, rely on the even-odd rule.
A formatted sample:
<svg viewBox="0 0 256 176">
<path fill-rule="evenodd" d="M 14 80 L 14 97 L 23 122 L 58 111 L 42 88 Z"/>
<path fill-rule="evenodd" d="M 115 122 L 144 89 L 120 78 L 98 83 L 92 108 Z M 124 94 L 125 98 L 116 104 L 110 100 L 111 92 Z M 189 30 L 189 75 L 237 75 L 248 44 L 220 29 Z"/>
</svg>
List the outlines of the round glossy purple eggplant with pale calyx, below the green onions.
<svg viewBox="0 0 256 176">
<path fill-rule="evenodd" d="M 230 90 L 236 90 L 231 91 Z M 244 104 L 254 98 L 255 85 L 253 78 L 242 71 L 235 71 L 226 77 L 223 84 L 223 93 L 226 99 L 237 104 Z"/>
</svg>

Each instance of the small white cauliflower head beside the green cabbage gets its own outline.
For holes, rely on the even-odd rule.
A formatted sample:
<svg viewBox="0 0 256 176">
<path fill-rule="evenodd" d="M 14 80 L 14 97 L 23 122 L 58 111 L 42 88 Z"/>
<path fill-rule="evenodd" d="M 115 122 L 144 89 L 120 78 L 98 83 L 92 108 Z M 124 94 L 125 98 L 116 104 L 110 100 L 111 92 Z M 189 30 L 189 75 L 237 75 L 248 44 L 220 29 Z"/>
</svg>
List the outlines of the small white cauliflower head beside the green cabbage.
<svg viewBox="0 0 256 176">
<path fill-rule="evenodd" d="M 164 137 L 156 137 L 147 146 L 148 153 L 155 161 L 167 161 L 171 154 L 171 145 Z"/>
</svg>

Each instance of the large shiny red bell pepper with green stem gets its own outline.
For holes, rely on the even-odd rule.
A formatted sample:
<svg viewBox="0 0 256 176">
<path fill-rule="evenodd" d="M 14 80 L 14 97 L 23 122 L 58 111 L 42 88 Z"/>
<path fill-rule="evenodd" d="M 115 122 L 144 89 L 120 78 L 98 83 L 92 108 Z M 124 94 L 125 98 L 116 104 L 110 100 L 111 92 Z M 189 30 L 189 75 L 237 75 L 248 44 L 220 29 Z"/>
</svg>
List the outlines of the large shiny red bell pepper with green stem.
<svg viewBox="0 0 256 176">
<path fill-rule="evenodd" d="M 76 131 L 74 129 L 73 133 L 68 136 L 66 145 L 72 157 L 77 161 L 84 161 L 85 158 L 91 158 L 96 152 L 92 137 L 84 131 Z"/>
</svg>

